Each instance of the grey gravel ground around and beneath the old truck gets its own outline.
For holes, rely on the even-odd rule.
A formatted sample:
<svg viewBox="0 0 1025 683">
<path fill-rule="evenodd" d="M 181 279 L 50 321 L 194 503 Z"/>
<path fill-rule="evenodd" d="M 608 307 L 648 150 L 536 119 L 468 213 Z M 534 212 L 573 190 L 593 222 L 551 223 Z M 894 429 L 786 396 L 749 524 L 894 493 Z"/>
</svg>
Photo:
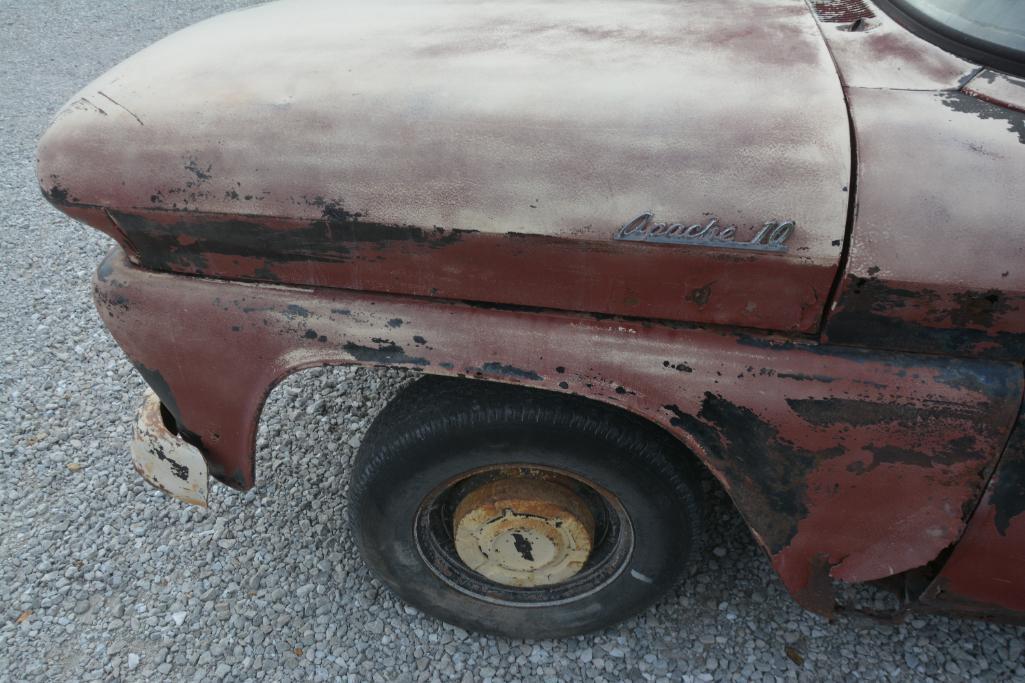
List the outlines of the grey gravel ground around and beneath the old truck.
<svg viewBox="0 0 1025 683">
<path fill-rule="evenodd" d="M 208 511 L 126 452 L 142 383 L 92 310 L 110 246 L 45 204 L 36 139 L 81 85 L 231 0 L 0 2 L 0 679 L 1019 680 L 1025 629 L 803 612 L 722 495 L 695 575 L 563 641 L 480 637 L 404 606 L 345 526 L 355 448 L 396 371 L 314 370 L 263 415 L 259 487 Z M 863 593 L 868 600 L 878 600 Z"/>
</svg>

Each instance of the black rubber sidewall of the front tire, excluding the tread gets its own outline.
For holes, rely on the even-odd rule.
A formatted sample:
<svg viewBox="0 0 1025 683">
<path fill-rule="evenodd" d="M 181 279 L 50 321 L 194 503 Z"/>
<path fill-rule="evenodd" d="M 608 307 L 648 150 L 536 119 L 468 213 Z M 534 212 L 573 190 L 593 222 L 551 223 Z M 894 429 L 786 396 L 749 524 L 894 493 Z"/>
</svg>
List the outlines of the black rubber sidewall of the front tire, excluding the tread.
<svg viewBox="0 0 1025 683">
<path fill-rule="evenodd" d="M 650 605 L 680 577 L 697 520 L 694 492 L 682 473 L 667 472 L 643 445 L 632 449 L 640 452 L 629 452 L 613 441 L 537 424 L 491 425 L 400 441 L 386 456 L 373 458 L 377 467 L 365 472 L 358 545 L 368 564 L 403 599 L 466 629 L 544 638 L 619 621 Z M 562 470 L 616 495 L 633 533 L 632 551 L 618 575 L 588 595 L 523 606 L 467 595 L 438 576 L 415 539 L 421 504 L 443 482 L 498 465 Z"/>
</svg>

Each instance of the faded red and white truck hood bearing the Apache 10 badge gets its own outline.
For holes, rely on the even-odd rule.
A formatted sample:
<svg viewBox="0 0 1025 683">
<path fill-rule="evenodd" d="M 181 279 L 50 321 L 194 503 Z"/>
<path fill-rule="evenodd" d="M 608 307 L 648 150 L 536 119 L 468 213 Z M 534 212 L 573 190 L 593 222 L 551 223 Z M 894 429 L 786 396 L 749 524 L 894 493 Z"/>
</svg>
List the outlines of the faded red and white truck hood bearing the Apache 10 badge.
<svg viewBox="0 0 1025 683">
<path fill-rule="evenodd" d="M 299 0 L 98 78 L 38 174 L 155 270 L 811 332 L 850 164 L 804 0 Z"/>
</svg>

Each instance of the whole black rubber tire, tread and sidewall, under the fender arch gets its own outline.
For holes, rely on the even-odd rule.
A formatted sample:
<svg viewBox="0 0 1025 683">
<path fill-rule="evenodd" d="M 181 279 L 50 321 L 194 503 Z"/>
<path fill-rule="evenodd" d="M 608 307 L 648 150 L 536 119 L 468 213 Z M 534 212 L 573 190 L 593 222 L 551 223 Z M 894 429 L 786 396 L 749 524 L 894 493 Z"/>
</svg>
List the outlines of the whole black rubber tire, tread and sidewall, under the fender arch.
<svg viewBox="0 0 1025 683">
<path fill-rule="evenodd" d="M 416 531 L 421 504 L 443 482 L 510 463 L 554 468 L 618 498 L 632 534 L 618 573 L 558 604 L 491 600 L 443 578 Z M 421 611 L 469 631 L 565 637 L 643 611 L 681 578 L 702 532 L 693 468 L 671 436 L 612 407 L 427 376 L 400 393 L 370 427 L 354 468 L 350 521 L 373 573 Z"/>
</svg>

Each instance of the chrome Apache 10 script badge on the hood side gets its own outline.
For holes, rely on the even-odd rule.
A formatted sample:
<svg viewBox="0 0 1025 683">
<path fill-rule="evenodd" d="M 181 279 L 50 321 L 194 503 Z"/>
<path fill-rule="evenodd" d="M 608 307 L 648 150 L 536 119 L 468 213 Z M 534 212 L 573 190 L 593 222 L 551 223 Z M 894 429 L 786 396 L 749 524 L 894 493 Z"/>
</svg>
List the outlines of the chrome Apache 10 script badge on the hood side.
<svg viewBox="0 0 1025 683">
<path fill-rule="evenodd" d="M 748 241 L 738 241 L 737 227 L 720 227 L 719 218 L 706 225 L 695 223 L 653 223 L 655 214 L 645 211 L 616 231 L 613 239 L 656 244 L 691 244 L 694 246 L 749 249 L 752 251 L 786 251 L 786 241 L 793 234 L 793 220 L 769 220 Z"/>
</svg>

